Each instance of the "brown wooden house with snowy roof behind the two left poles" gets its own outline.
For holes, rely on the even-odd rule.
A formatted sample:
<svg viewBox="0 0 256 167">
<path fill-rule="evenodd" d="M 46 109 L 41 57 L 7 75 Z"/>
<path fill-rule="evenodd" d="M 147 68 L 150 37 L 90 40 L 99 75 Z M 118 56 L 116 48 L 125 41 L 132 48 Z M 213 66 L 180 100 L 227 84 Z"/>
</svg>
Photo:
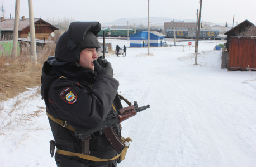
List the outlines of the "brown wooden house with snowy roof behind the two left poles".
<svg viewBox="0 0 256 167">
<path fill-rule="evenodd" d="M 12 40 L 13 30 L 14 30 L 14 19 L 4 19 L 4 21 L 0 22 L 0 31 L 1 38 L 4 40 Z M 54 27 L 50 23 L 44 21 L 41 18 L 34 18 L 35 22 L 35 33 L 36 39 L 47 40 L 54 30 L 59 30 L 59 28 Z M 19 21 L 18 26 L 18 38 L 27 38 L 30 35 L 30 23 L 29 19 L 25 19 L 22 17 Z"/>
</svg>

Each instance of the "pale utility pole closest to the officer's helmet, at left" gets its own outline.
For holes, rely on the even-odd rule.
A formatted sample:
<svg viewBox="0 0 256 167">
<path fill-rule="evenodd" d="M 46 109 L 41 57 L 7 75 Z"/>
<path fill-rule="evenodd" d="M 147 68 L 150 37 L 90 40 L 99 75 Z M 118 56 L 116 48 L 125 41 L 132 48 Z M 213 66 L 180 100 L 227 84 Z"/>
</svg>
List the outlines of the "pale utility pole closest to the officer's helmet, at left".
<svg viewBox="0 0 256 167">
<path fill-rule="evenodd" d="M 32 0 L 29 0 L 29 23 L 30 23 L 30 46 L 31 46 L 32 62 L 37 63 L 35 21 L 34 21 Z"/>
</svg>

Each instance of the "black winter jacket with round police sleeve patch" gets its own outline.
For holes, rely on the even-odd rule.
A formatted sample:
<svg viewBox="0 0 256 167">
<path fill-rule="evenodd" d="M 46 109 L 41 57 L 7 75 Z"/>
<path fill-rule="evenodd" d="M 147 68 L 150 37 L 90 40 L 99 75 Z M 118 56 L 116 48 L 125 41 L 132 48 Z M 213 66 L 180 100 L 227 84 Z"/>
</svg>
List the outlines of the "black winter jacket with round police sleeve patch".
<svg viewBox="0 0 256 167">
<path fill-rule="evenodd" d="M 120 99 L 116 96 L 119 86 L 117 80 L 107 75 L 96 77 L 93 72 L 74 64 L 51 66 L 45 62 L 41 82 L 41 95 L 45 99 L 46 111 L 56 119 L 67 121 L 75 129 L 88 130 L 99 126 L 113 110 L 112 104 L 117 110 L 122 108 Z M 57 148 L 82 153 L 82 140 L 75 137 L 73 131 L 50 119 L 49 122 Z M 120 137 L 120 125 L 113 127 Z M 94 136 L 96 137 L 90 139 L 89 155 L 101 159 L 111 159 L 117 155 L 104 134 L 94 134 Z M 56 153 L 55 160 L 59 157 L 65 155 Z M 111 161 L 80 160 L 89 166 L 111 163 Z"/>
</svg>

